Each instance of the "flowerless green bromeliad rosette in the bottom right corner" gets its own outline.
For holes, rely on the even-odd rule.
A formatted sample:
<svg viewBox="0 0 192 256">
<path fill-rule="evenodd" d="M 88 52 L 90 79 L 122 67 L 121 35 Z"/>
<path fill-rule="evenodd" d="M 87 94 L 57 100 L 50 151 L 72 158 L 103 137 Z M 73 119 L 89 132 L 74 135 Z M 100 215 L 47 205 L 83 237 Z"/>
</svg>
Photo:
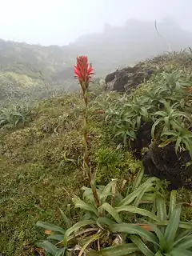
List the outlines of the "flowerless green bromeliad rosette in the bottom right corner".
<svg viewBox="0 0 192 256">
<path fill-rule="evenodd" d="M 133 224 L 118 223 L 112 225 L 111 230 L 126 234 L 145 256 L 190 256 L 192 254 L 192 223 L 180 220 L 182 206 L 176 205 L 176 190 L 170 194 L 168 213 L 163 198 L 157 198 L 156 204 L 157 216 L 161 222 L 147 222 L 150 229 L 141 230 Z M 111 249 L 104 249 L 101 254 L 94 255 L 110 255 L 105 253 Z"/>
</svg>

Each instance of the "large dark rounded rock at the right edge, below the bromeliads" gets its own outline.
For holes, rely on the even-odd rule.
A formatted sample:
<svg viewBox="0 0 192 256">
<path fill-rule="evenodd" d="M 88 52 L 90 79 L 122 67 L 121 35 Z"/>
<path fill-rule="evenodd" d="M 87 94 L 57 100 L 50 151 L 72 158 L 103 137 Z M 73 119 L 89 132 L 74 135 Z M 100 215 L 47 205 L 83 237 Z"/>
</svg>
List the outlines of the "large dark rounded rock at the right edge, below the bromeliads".
<svg viewBox="0 0 192 256">
<path fill-rule="evenodd" d="M 152 143 L 143 159 L 145 173 L 169 181 L 170 190 L 192 188 L 192 183 L 186 182 L 192 176 L 192 166 L 186 168 L 186 162 L 190 162 L 190 154 L 184 151 L 177 156 L 174 143 L 163 148 Z"/>
</svg>

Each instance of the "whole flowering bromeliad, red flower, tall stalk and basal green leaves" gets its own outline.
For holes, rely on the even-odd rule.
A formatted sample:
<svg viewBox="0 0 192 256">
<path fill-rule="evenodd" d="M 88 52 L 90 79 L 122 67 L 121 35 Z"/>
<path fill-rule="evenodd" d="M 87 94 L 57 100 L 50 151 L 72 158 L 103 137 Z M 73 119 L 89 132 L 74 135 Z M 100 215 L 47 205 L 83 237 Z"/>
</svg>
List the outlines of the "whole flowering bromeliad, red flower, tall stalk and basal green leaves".
<svg viewBox="0 0 192 256">
<path fill-rule="evenodd" d="M 126 194 L 118 190 L 118 180 L 114 179 L 106 186 L 98 186 L 95 184 L 94 174 L 91 172 L 89 161 L 89 150 L 87 141 L 87 106 L 88 106 L 88 86 L 93 74 L 92 67 L 88 67 L 86 57 L 77 58 L 77 66 L 74 67 L 74 72 L 82 87 L 83 99 L 85 102 L 85 117 L 84 117 L 84 166 L 89 180 L 90 187 L 82 188 L 82 199 L 74 196 L 74 207 L 79 208 L 82 213 L 80 221 L 72 225 L 70 219 L 62 213 L 66 229 L 59 226 L 38 222 L 37 226 L 46 229 L 48 238 L 38 244 L 47 252 L 54 256 L 64 255 L 91 255 L 92 250 L 99 251 L 106 246 L 114 245 L 113 253 L 117 253 L 119 243 L 126 243 L 123 234 L 118 234 L 118 231 L 111 231 L 110 226 L 115 223 L 122 223 L 123 219 L 130 221 L 136 220 L 135 214 L 139 214 L 142 218 L 150 218 L 154 222 L 160 221 L 158 217 L 149 210 L 142 209 L 141 204 L 152 204 L 155 194 L 159 193 L 158 178 L 149 178 L 142 183 L 144 170 L 138 173 L 133 186 L 129 187 Z M 146 225 L 134 224 L 141 230 L 142 227 L 148 228 Z M 141 227 L 142 226 L 142 227 Z M 133 251 L 138 251 L 137 246 L 133 243 L 124 244 L 121 247 L 123 254 L 130 254 Z"/>
</svg>

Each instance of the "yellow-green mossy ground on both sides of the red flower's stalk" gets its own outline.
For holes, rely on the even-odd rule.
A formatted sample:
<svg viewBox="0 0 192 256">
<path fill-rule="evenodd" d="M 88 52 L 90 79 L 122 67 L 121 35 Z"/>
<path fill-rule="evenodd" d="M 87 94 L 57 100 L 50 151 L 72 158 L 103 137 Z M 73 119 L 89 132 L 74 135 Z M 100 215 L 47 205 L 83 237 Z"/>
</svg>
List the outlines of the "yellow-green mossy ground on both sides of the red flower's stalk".
<svg viewBox="0 0 192 256">
<path fill-rule="evenodd" d="M 142 162 L 117 150 L 112 130 L 94 103 L 97 92 L 90 96 L 89 142 L 93 168 L 99 166 L 98 182 L 129 182 Z M 81 193 L 86 184 L 82 111 L 81 94 L 65 94 L 38 102 L 26 126 L 0 131 L 0 255 L 33 255 L 34 243 L 44 235 L 35 223 L 62 224 L 59 209 L 65 210 L 74 194 Z M 179 190 L 178 201 L 186 203 L 182 218 L 190 220 L 191 192 Z M 77 218 L 73 207 L 70 214 Z"/>
</svg>

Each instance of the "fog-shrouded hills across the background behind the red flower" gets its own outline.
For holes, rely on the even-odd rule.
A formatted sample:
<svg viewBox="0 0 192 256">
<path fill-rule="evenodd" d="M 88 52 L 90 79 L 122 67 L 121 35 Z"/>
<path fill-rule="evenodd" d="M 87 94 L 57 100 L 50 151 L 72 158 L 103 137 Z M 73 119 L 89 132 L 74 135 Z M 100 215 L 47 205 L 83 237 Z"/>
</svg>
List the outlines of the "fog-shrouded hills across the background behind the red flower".
<svg viewBox="0 0 192 256">
<path fill-rule="evenodd" d="M 73 65 L 86 54 L 97 76 L 191 45 L 192 33 L 177 23 L 128 20 L 124 26 L 105 26 L 102 33 L 86 34 L 68 46 L 41 46 L 0 40 L 0 99 L 45 98 L 77 89 Z"/>
</svg>

